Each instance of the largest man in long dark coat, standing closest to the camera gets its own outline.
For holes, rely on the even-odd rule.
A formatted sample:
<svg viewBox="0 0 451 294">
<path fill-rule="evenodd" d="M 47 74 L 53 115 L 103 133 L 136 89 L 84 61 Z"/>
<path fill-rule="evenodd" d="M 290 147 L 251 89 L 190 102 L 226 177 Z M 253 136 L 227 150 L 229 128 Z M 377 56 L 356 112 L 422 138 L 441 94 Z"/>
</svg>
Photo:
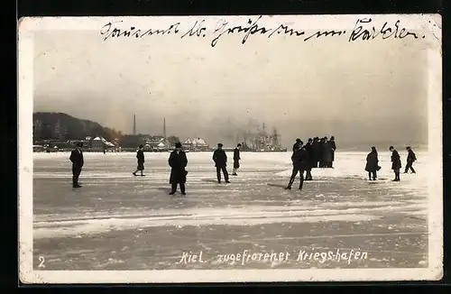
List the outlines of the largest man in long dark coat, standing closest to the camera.
<svg viewBox="0 0 451 294">
<path fill-rule="evenodd" d="M 188 171 L 185 170 L 188 164 L 187 154 L 181 150 L 181 143 L 175 143 L 175 150 L 170 152 L 170 195 L 177 191 L 177 184 L 180 185 L 181 195 L 186 195 L 185 183 L 187 181 Z"/>
</svg>

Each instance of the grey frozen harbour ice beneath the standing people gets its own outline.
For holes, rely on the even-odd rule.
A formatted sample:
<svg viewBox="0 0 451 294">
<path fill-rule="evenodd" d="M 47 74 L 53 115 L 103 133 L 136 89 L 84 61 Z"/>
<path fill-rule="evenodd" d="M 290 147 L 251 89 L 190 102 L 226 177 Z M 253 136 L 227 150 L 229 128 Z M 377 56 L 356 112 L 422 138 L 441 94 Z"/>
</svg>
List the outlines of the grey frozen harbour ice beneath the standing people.
<svg viewBox="0 0 451 294">
<path fill-rule="evenodd" d="M 335 169 L 313 170 L 299 191 L 282 187 L 290 152 L 242 153 L 230 184 L 216 183 L 210 152 L 188 153 L 186 197 L 170 191 L 169 153 L 85 152 L 83 188 L 71 188 L 69 153 L 34 153 L 33 258 L 46 270 L 413 268 L 428 266 L 427 154 L 418 174 L 391 182 L 389 152 L 368 181 L 366 152 L 337 152 Z M 401 152 L 403 165 L 406 154 Z M 229 158 L 232 154 L 228 154 Z M 290 253 L 283 262 L 219 261 L 218 254 Z M 306 253 L 366 253 L 352 262 L 297 260 Z M 205 262 L 181 262 L 202 252 Z M 234 256 L 235 256 L 234 255 Z M 231 256 L 231 255 L 230 255 Z"/>
</svg>

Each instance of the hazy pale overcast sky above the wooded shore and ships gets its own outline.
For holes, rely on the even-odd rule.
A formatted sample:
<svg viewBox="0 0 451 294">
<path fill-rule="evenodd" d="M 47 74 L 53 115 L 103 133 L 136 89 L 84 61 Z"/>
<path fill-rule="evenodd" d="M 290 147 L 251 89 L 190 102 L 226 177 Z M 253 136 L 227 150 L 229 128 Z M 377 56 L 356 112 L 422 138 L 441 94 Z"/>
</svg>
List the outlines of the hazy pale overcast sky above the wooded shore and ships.
<svg viewBox="0 0 451 294">
<path fill-rule="evenodd" d="M 427 141 L 427 56 L 419 41 L 251 37 L 102 41 L 98 31 L 34 35 L 34 111 L 124 133 L 235 143 L 253 120 L 282 143 Z M 255 123 L 256 124 L 256 123 Z"/>
</svg>

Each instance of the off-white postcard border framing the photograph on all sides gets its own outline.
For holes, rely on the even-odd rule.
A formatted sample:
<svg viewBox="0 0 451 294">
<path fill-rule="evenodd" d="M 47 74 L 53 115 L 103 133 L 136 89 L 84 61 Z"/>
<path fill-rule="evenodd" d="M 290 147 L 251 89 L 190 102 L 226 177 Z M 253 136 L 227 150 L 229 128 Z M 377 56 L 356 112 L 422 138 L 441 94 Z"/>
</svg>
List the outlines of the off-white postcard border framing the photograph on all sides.
<svg viewBox="0 0 451 294">
<path fill-rule="evenodd" d="M 344 20 L 381 15 L 276 15 L 292 22 L 305 18 L 308 29 L 341 28 Z M 179 16 L 178 16 L 179 17 Z M 208 16 L 210 17 L 210 16 Z M 202 18 L 208 18 L 202 17 Z M 229 16 L 221 16 L 221 18 Z M 242 19 L 247 16 L 230 16 Z M 441 39 L 441 24 L 437 14 L 391 14 L 385 18 L 401 17 L 406 27 L 423 28 Z M 133 17 L 139 23 L 153 22 L 155 17 Z M 190 16 L 195 19 L 200 16 Z M 443 275 L 443 170 L 442 162 L 442 56 L 441 44 L 428 44 L 428 146 L 434 154 L 429 162 L 428 268 L 417 269 L 339 269 L 339 270 L 175 270 L 175 271 L 34 271 L 32 258 L 32 111 L 33 111 L 33 32 L 35 30 L 97 29 L 97 26 L 118 17 L 49 17 L 21 20 L 18 46 L 18 176 L 19 176 L 19 276 L 23 283 L 180 283 L 235 281 L 330 281 L 330 280 L 439 280 Z M 159 17 L 161 22 L 173 21 Z M 428 27 L 425 27 L 425 19 Z M 151 22 L 149 22 L 151 23 Z M 333 23 L 333 25 L 331 25 Z M 96 26 L 97 25 L 97 26 Z M 346 23 L 346 27 L 349 24 Z M 441 42 L 441 40 L 438 40 Z M 206 43 L 206 46 L 208 44 Z M 440 170 L 440 174 L 437 171 Z M 425 171 L 426 172 L 426 171 Z"/>
</svg>

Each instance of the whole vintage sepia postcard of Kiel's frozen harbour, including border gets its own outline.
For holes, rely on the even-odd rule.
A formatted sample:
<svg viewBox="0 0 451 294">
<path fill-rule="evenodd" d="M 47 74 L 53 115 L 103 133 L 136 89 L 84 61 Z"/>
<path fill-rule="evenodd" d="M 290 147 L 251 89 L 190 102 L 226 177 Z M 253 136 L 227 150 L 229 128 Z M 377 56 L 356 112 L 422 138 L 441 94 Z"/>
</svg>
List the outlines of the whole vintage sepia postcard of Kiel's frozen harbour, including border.
<svg viewBox="0 0 451 294">
<path fill-rule="evenodd" d="M 441 16 L 23 18 L 23 283 L 440 280 Z"/>
</svg>

